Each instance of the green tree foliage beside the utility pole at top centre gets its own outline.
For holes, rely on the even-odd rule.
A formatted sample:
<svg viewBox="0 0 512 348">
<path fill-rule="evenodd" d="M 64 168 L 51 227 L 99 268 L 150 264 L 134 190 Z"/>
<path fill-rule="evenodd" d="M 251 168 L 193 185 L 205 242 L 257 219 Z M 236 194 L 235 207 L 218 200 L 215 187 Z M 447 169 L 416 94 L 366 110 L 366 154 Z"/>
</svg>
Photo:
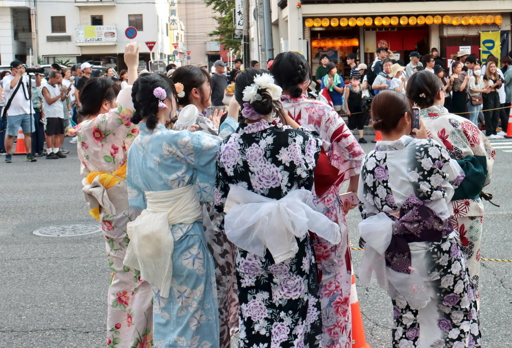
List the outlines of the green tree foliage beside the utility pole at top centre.
<svg viewBox="0 0 512 348">
<path fill-rule="evenodd" d="M 234 25 L 233 25 L 233 9 L 234 0 L 204 0 L 206 5 L 220 13 L 220 16 L 214 16 L 214 19 L 219 23 L 219 27 L 214 31 L 208 33 L 209 36 L 219 37 L 220 45 L 224 45 L 225 50 L 233 50 L 233 53 L 240 55 L 240 45 L 242 40 L 233 40 Z"/>
</svg>

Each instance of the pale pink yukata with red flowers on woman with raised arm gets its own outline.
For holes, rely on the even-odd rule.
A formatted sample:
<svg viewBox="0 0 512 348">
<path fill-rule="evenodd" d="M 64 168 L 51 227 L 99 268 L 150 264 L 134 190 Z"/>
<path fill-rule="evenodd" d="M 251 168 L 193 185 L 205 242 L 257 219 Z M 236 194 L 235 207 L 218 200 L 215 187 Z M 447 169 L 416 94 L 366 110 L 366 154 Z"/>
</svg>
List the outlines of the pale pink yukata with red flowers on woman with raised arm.
<svg viewBox="0 0 512 348">
<path fill-rule="evenodd" d="M 77 127 L 80 173 L 84 177 L 91 172 L 118 171 L 126 162 L 128 147 L 139 134 L 138 127 L 130 121 L 133 112 L 131 86 L 119 93 L 116 103 L 117 108 Z M 91 186 L 86 180 L 83 180 L 84 189 Z M 106 194 L 108 199 L 99 204 L 106 254 L 112 270 L 106 343 L 112 348 L 148 348 L 153 340 L 153 292 L 150 285 L 140 279 L 138 270 L 123 266 L 130 242 L 126 224 L 135 220 L 139 211 L 128 205 L 124 179 L 106 189 Z M 91 195 L 86 194 L 86 198 L 88 196 L 91 202 Z"/>
</svg>

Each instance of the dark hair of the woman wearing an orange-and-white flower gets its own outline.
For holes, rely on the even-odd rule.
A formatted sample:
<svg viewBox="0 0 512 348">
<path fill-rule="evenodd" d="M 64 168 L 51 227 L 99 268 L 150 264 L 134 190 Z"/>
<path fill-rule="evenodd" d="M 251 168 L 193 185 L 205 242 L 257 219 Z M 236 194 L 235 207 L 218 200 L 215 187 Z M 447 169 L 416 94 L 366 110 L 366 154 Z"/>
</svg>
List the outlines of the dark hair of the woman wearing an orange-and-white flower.
<svg viewBox="0 0 512 348">
<path fill-rule="evenodd" d="M 209 95 L 205 95 L 203 90 L 201 89 L 204 82 L 208 82 L 211 85 L 210 74 L 204 69 L 198 68 L 196 66 L 183 66 L 179 67 L 173 73 L 173 81 L 174 83 L 183 84 L 183 92 L 185 96 L 183 98 L 178 97 L 178 104 L 181 106 L 185 106 L 191 104 L 190 95 L 191 91 L 194 88 L 197 88 L 199 91 L 199 95 L 201 96 L 201 103 L 206 104 Z"/>
</svg>

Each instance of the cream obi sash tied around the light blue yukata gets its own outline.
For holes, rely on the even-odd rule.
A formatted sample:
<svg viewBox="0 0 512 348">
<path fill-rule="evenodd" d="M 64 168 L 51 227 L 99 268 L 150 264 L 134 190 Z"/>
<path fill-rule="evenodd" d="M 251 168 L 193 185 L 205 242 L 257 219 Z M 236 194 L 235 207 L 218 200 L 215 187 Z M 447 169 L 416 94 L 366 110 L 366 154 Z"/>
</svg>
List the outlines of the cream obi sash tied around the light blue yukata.
<svg viewBox="0 0 512 348">
<path fill-rule="evenodd" d="M 201 205 L 194 185 L 144 195 L 147 208 L 127 224 L 130 244 L 123 264 L 140 270 L 141 279 L 166 298 L 173 278 L 174 237 L 169 227 L 201 220 Z"/>
</svg>

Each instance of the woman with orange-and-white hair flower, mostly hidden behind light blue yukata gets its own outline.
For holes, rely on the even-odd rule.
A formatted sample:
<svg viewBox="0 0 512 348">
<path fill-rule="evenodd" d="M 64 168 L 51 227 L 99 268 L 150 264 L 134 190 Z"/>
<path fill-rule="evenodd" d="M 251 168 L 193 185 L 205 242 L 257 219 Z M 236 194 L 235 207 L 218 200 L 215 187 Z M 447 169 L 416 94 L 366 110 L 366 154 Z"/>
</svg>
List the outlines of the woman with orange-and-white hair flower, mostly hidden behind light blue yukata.
<svg viewBox="0 0 512 348">
<path fill-rule="evenodd" d="M 225 128 L 219 134 L 219 121 L 223 115 L 222 111 L 216 110 L 210 118 L 202 114 L 206 107 L 211 106 L 211 79 L 207 71 L 195 66 L 180 67 L 173 73 L 173 81 L 177 86 L 179 105 L 193 104 L 198 108 L 199 115 L 195 124 L 199 127 L 199 131 L 219 135 L 221 138 L 225 138 L 232 133 L 231 128 Z M 177 122 L 173 129 L 181 130 L 184 129 L 184 126 Z M 239 306 L 237 280 L 234 276 L 236 248 L 227 240 L 226 235 L 216 228 L 219 225 L 219 219 L 220 216 L 215 212 L 213 203 L 204 203 L 205 237 L 215 262 L 221 348 L 229 348 L 231 346 L 231 333 L 238 329 Z"/>
</svg>

